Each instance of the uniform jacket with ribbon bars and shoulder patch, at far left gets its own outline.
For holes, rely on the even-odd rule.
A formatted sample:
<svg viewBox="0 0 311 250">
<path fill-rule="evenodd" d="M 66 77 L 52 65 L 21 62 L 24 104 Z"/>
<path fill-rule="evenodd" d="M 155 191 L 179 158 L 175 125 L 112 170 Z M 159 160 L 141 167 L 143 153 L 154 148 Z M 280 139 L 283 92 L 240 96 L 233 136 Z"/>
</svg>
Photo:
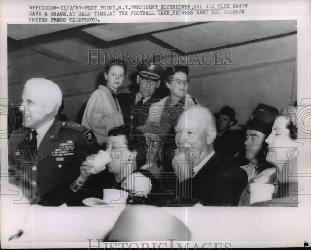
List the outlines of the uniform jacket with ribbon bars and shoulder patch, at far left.
<svg viewBox="0 0 311 250">
<path fill-rule="evenodd" d="M 36 195 L 36 203 L 59 206 L 64 203 L 62 199 L 69 185 L 79 176 L 81 163 L 98 152 L 96 137 L 80 124 L 55 118 L 33 155 L 30 135 L 31 129 L 21 128 L 10 137 L 10 176 L 15 177 L 15 182 L 18 179 L 17 183 L 30 196 L 31 192 Z"/>
</svg>

